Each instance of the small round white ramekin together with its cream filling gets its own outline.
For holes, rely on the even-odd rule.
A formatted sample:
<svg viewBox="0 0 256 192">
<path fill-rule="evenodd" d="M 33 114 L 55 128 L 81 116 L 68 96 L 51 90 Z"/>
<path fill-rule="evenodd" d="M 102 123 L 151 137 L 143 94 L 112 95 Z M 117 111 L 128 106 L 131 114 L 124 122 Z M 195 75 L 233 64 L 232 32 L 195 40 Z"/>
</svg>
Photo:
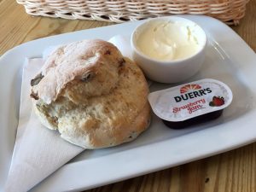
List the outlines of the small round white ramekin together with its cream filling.
<svg viewBox="0 0 256 192">
<path fill-rule="evenodd" d="M 168 33 L 166 29 L 169 29 Z M 147 35 L 148 32 L 150 35 Z M 170 34 L 170 36 L 166 37 L 166 33 Z M 147 38 L 148 36 L 150 38 Z M 140 41 L 140 38 L 143 40 Z M 171 40 L 172 38 L 177 39 L 175 41 Z M 189 56 L 183 55 L 183 57 L 179 59 L 165 59 L 163 61 L 146 55 L 140 47 L 142 42 L 143 49 L 147 49 L 146 52 L 148 52 L 148 54 L 154 54 L 157 58 L 163 58 L 163 56 L 168 55 L 167 53 L 172 52 L 171 47 L 173 48 L 172 56 L 174 56 L 174 58 L 176 54 L 179 55 L 187 52 L 188 49 L 191 51 L 193 46 L 197 46 L 197 48 L 194 53 L 187 53 Z M 165 50 L 160 49 L 156 44 L 160 46 L 160 48 L 167 48 Z M 172 44 L 172 46 L 170 46 L 170 44 Z M 188 44 L 190 44 L 189 48 L 186 47 Z M 183 47 L 182 51 L 179 50 L 180 47 Z M 137 26 L 131 33 L 131 49 L 134 61 L 143 69 L 143 72 L 149 79 L 160 83 L 177 83 L 195 75 L 195 73 L 200 70 L 205 59 L 206 47 L 207 35 L 201 26 L 192 20 L 177 16 L 145 20 L 142 25 Z M 163 52 L 165 52 L 164 55 Z M 170 55 L 168 56 L 172 57 Z"/>
</svg>

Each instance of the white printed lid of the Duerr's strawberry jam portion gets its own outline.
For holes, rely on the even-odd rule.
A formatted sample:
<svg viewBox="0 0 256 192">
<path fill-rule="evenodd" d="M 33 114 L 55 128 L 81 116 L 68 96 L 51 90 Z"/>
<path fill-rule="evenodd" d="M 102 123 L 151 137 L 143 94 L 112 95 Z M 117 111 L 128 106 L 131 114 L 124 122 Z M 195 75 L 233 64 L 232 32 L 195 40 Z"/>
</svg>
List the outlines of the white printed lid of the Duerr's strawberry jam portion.
<svg viewBox="0 0 256 192">
<path fill-rule="evenodd" d="M 228 107 L 232 98 L 230 88 L 214 79 L 202 79 L 148 95 L 154 113 L 160 119 L 171 122 L 214 114 Z"/>
</svg>

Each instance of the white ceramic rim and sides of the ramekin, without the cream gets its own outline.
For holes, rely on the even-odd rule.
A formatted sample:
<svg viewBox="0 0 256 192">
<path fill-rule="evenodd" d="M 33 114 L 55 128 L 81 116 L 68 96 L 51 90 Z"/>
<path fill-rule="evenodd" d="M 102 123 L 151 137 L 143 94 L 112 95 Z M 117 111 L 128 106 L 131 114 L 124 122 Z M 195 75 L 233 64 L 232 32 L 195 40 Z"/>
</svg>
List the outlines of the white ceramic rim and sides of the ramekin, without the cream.
<svg viewBox="0 0 256 192">
<path fill-rule="evenodd" d="M 194 35 L 197 38 L 200 49 L 188 58 L 176 60 L 176 61 L 158 61 L 150 58 L 148 55 L 144 55 L 137 48 L 137 38 L 150 26 L 151 22 L 158 21 L 172 21 L 180 22 L 185 26 L 194 27 Z M 131 34 L 131 49 L 133 60 L 143 69 L 143 73 L 154 81 L 160 83 L 177 83 L 197 73 L 205 59 L 205 50 L 207 47 L 207 35 L 203 31 L 201 26 L 198 26 L 194 21 L 187 20 L 177 16 L 167 16 L 155 19 L 145 20 L 143 24 L 137 26 L 137 28 Z"/>
</svg>

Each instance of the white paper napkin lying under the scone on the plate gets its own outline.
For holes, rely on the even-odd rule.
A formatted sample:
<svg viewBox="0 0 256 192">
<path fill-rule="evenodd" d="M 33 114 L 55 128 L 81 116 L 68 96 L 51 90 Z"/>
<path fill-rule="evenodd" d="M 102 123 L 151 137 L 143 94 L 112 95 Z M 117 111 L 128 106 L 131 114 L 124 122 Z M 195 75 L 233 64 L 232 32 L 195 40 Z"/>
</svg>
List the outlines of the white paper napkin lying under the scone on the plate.
<svg viewBox="0 0 256 192">
<path fill-rule="evenodd" d="M 116 36 L 109 40 L 123 55 L 131 58 L 129 37 Z M 44 58 L 55 47 L 44 50 Z M 65 165 L 69 160 L 84 151 L 61 139 L 57 131 L 41 125 L 32 111 L 30 80 L 44 64 L 43 58 L 26 59 L 23 69 L 20 119 L 17 128 L 15 149 L 5 185 L 6 192 L 22 192 L 32 189 L 45 177 Z"/>
</svg>

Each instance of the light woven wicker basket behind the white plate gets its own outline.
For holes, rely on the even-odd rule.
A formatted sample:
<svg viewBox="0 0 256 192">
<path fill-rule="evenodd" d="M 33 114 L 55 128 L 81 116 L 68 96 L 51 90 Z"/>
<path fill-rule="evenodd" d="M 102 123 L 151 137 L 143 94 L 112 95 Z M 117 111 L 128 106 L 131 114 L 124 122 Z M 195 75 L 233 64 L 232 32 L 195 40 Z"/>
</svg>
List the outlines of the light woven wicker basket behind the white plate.
<svg viewBox="0 0 256 192">
<path fill-rule="evenodd" d="M 17 0 L 26 13 L 70 20 L 124 22 L 161 15 L 209 15 L 237 25 L 249 0 Z"/>
</svg>

